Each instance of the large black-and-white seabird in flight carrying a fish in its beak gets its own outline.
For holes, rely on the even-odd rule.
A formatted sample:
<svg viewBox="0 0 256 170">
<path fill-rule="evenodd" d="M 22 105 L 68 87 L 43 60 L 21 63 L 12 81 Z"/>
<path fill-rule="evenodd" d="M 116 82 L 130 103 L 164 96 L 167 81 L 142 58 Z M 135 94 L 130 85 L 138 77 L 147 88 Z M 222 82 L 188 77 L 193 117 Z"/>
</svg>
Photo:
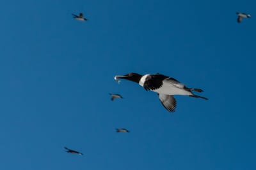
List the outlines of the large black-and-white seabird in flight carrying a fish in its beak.
<svg viewBox="0 0 256 170">
<path fill-rule="evenodd" d="M 176 107 L 176 100 L 173 95 L 185 95 L 196 98 L 207 98 L 202 96 L 196 96 L 192 91 L 202 92 L 201 89 L 188 88 L 184 84 L 180 83 L 174 78 L 164 76 L 163 74 L 145 74 L 141 75 L 138 73 L 128 73 L 124 76 L 117 75 L 115 80 L 118 78 L 134 81 L 139 83 L 145 90 L 151 90 L 157 92 L 161 103 L 166 110 L 173 112 Z"/>
</svg>

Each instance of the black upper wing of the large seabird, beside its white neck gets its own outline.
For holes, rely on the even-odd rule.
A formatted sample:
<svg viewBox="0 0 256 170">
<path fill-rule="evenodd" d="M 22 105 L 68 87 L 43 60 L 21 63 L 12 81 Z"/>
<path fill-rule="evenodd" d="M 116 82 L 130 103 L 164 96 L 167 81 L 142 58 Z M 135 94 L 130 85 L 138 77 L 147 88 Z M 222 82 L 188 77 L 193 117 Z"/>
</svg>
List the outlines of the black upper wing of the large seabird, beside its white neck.
<svg viewBox="0 0 256 170">
<path fill-rule="evenodd" d="M 168 78 L 168 76 L 164 76 L 163 74 L 148 75 L 143 87 L 145 88 L 145 90 L 159 89 L 163 85 L 163 80 L 166 78 Z"/>
</svg>

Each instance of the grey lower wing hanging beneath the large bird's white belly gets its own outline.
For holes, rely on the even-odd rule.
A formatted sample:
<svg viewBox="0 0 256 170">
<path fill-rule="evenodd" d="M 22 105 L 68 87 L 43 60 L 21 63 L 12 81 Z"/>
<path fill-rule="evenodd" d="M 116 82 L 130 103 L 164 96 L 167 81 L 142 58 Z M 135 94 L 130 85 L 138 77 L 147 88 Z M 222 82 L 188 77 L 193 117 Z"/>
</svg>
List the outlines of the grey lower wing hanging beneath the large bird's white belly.
<svg viewBox="0 0 256 170">
<path fill-rule="evenodd" d="M 170 112 L 174 112 L 176 108 L 176 100 L 173 95 L 158 94 L 159 100 L 163 104 L 164 108 Z"/>
</svg>

